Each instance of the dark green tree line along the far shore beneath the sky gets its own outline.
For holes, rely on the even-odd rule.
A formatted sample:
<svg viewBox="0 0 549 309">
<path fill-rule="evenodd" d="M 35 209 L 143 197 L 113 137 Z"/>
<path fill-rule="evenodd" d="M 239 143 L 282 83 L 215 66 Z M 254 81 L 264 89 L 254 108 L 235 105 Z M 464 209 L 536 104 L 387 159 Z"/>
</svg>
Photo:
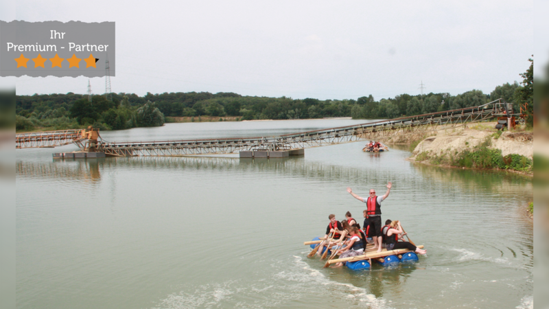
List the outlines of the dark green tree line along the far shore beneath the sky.
<svg viewBox="0 0 549 309">
<path fill-rule="evenodd" d="M 142 97 L 134 93 L 111 93 L 112 100 L 106 100 L 102 95 L 93 95 L 91 103 L 86 95 L 75 93 L 17 95 L 16 123 L 18 130 L 28 130 L 40 121 L 58 119 L 59 122 L 66 122 L 66 126 L 91 124 L 107 130 L 118 130 L 136 126 L 161 126 L 165 116 L 233 116 L 240 120 L 324 117 L 392 119 L 478 106 L 500 98 L 513 102 L 515 111 L 519 111 L 519 104 L 533 102 L 533 60 L 529 60 L 530 68 L 520 74 L 523 78 L 521 84 L 516 81 L 513 84 L 505 83 L 495 87 L 489 94 L 474 89 L 458 95 L 402 94 L 377 101 L 372 95 L 357 100 L 318 100 L 284 96 L 252 97 L 223 92 L 147 93 Z M 533 104 L 529 105 L 531 110 Z M 529 123 L 531 124 L 531 119 Z"/>
</svg>

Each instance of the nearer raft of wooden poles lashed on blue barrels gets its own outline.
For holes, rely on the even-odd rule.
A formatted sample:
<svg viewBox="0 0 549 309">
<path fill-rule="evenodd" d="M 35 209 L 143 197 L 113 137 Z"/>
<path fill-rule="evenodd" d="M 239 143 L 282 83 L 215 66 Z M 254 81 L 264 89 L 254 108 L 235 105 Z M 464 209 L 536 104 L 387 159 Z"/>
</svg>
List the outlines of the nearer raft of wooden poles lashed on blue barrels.
<svg viewBox="0 0 549 309">
<path fill-rule="evenodd" d="M 311 249 L 318 247 L 320 242 L 323 242 L 324 238 L 314 238 L 310 242 L 303 242 L 305 245 L 309 245 Z M 423 245 L 417 246 L 419 249 L 423 249 Z M 327 247 L 323 248 L 323 252 L 328 250 L 328 255 L 331 254 L 331 250 Z M 419 260 L 417 254 L 408 249 L 395 249 L 387 251 L 383 248 L 381 252 L 377 252 L 377 249 L 373 249 L 373 244 L 366 245 L 366 251 L 363 255 L 353 256 L 351 258 L 336 259 L 333 258 L 327 261 L 327 264 L 334 264 L 337 262 L 346 262 L 345 266 L 353 271 L 360 271 L 364 269 L 370 269 L 373 262 L 379 263 L 382 266 L 391 266 L 398 263 L 416 262 Z"/>
</svg>

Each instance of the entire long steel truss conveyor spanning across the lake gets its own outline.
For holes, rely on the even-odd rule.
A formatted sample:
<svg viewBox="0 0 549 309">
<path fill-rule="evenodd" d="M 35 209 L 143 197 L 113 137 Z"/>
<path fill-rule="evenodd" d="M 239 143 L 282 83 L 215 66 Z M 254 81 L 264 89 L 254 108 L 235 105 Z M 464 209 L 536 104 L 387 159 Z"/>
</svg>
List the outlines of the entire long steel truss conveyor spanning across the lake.
<svg viewBox="0 0 549 309">
<path fill-rule="evenodd" d="M 402 135 L 425 134 L 436 130 L 458 128 L 500 115 L 500 100 L 481 106 L 452 111 L 402 117 L 397 119 L 293 133 L 277 137 L 245 137 L 226 139 L 196 139 L 180 141 L 139 141 L 108 143 L 100 137 L 95 151 L 117 157 L 178 157 L 188 155 L 226 154 L 250 150 L 292 150 L 334 144 L 350 143 L 364 139 L 383 140 Z M 98 134 L 97 134 L 98 136 Z M 23 133 L 16 135 L 16 148 L 54 147 L 75 143 L 84 149 L 80 130 Z M 91 139 L 90 139 L 91 141 Z"/>
</svg>

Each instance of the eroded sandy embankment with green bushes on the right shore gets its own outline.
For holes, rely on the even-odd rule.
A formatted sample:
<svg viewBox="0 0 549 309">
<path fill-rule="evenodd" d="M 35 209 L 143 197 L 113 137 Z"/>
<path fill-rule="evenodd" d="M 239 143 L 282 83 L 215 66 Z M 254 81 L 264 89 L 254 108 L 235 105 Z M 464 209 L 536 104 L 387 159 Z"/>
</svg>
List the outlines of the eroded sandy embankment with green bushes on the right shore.
<svg viewBox="0 0 549 309">
<path fill-rule="evenodd" d="M 532 174 L 533 133 L 465 128 L 423 139 L 409 161 L 458 168 L 514 170 Z"/>
</svg>

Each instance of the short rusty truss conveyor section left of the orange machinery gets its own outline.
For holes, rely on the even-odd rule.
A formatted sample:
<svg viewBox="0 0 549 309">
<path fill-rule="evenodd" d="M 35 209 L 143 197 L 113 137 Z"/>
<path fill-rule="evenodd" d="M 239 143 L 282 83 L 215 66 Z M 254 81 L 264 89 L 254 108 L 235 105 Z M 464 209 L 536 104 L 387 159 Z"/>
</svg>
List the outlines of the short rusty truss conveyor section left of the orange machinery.
<svg viewBox="0 0 549 309">
<path fill-rule="evenodd" d="M 15 148 L 53 148 L 68 144 L 77 144 L 83 147 L 82 130 L 58 130 L 31 133 L 18 133 L 15 135 Z"/>
</svg>

